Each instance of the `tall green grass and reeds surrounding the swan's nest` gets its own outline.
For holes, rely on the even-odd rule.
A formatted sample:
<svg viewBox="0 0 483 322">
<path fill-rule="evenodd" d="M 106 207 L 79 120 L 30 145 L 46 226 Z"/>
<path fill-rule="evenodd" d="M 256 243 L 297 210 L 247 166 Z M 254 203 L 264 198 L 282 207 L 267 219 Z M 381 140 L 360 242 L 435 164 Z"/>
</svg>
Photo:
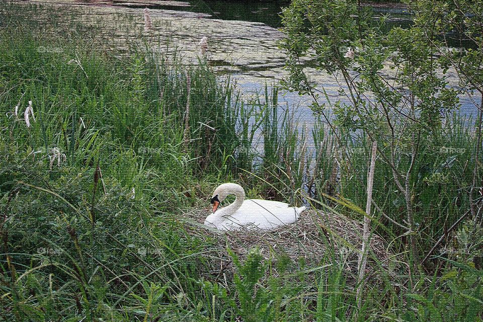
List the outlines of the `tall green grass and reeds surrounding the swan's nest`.
<svg viewBox="0 0 483 322">
<path fill-rule="evenodd" d="M 221 182 L 298 204 L 308 184 L 313 200 L 361 218 L 364 137 L 338 133 L 337 143 L 319 119 L 312 131 L 297 126 L 276 89 L 245 102 L 203 61 L 187 67 L 149 48 L 119 56 L 89 40 L 46 43 L 22 29 L 3 29 L 0 47 L 3 320 L 481 320 L 480 226 L 461 226 L 451 244 L 459 249 L 426 263 L 411 290 L 406 230 L 394 223 L 404 225 L 404 201 L 382 162 L 374 199 L 385 216 L 377 211 L 374 225 L 401 265 L 393 275 L 378 265 L 379 282 L 366 283 L 361 309 L 345 255 L 331 248 L 317 267 L 254 250 L 245 261 L 233 255 L 226 282 L 210 273 L 215 242 L 190 234 L 183 210 L 207 207 Z M 472 129 L 457 115 L 449 119 L 425 143 L 415 171 L 422 253 L 468 208 L 471 151 L 458 149 L 445 165 L 454 153 L 440 148 L 471 146 Z M 50 165 L 53 148 L 65 154 L 60 165 Z"/>
</svg>

